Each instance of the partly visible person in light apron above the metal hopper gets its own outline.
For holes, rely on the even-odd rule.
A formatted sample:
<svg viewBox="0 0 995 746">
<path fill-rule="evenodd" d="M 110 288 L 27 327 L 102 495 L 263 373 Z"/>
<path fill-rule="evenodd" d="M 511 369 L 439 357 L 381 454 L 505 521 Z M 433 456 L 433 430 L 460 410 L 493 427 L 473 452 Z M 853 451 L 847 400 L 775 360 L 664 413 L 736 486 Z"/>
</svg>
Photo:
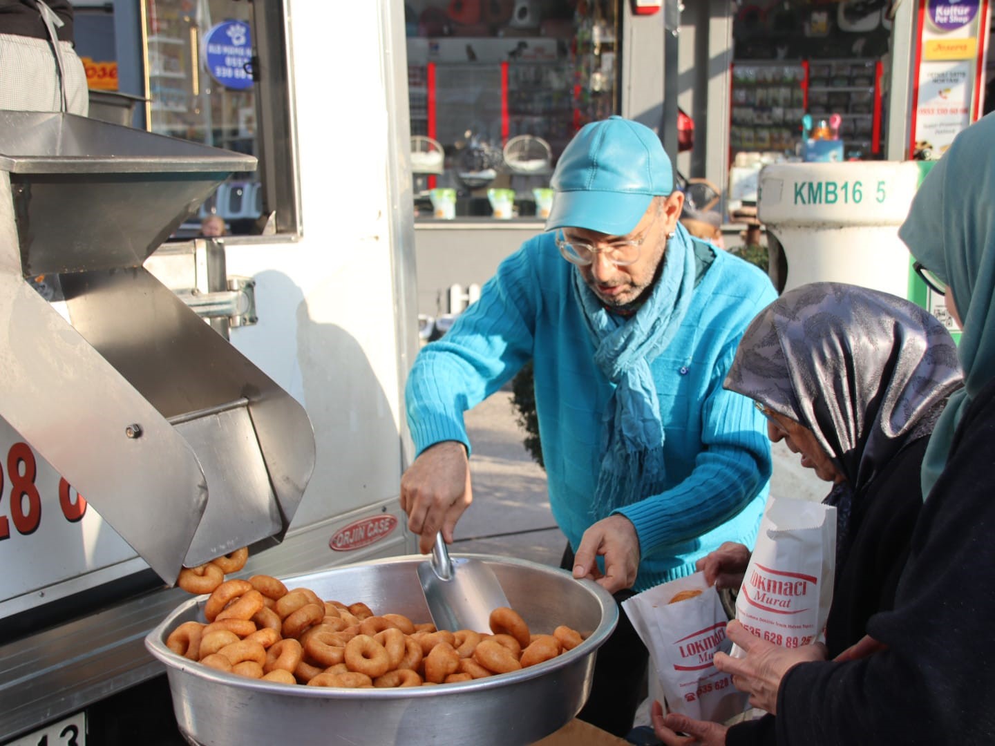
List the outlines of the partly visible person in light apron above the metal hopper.
<svg viewBox="0 0 995 746">
<path fill-rule="evenodd" d="M 70 0 L 0 0 L 0 109 L 89 113 Z"/>
</svg>

